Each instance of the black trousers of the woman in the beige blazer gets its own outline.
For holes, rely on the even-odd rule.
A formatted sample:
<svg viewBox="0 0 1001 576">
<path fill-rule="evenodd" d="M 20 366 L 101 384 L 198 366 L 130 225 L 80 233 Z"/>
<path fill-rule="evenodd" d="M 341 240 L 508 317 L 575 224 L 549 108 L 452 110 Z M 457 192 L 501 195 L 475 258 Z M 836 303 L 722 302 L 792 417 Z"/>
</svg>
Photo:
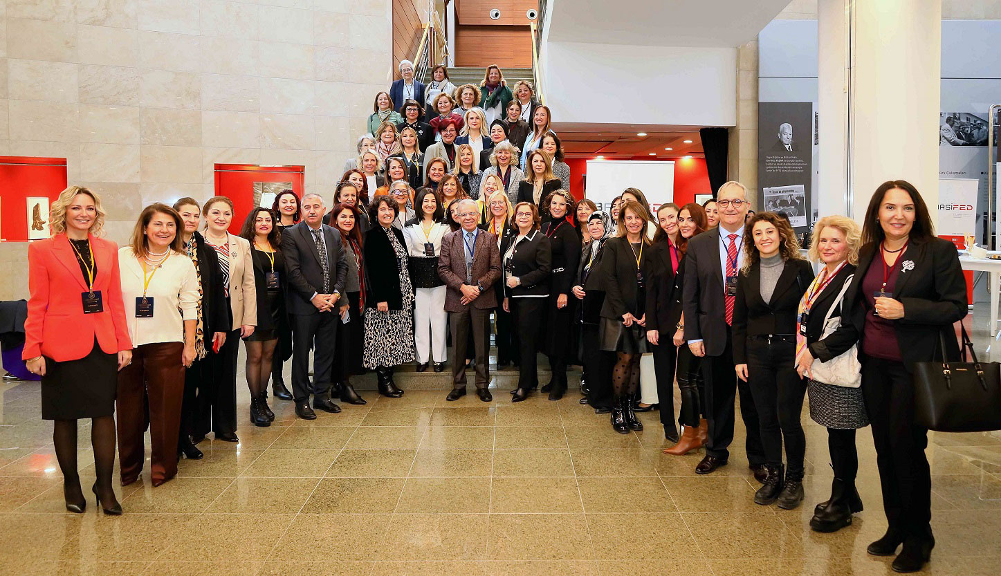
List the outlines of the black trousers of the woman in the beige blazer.
<svg viewBox="0 0 1001 576">
<path fill-rule="evenodd" d="M 212 352 L 211 341 L 207 342 L 208 353 L 204 362 L 207 378 L 202 379 L 198 389 L 198 412 L 194 424 L 194 434 L 204 436 L 209 431 L 216 434 L 236 433 L 236 357 L 240 352 L 240 331 L 226 334 L 226 343 L 218 352 Z"/>
</svg>

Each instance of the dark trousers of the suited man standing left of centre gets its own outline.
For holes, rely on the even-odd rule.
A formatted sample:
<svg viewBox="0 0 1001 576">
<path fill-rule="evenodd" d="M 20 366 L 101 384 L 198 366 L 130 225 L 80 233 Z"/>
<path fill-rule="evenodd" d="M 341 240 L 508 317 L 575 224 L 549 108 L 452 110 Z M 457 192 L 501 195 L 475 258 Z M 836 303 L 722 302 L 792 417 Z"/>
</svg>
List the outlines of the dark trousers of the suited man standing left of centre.
<svg viewBox="0 0 1001 576">
<path fill-rule="evenodd" d="M 306 402 L 309 394 L 321 396 L 330 389 L 333 355 L 337 343 L 336 312 L 302 316 L 289 314 L 292 324 L 292 399 Z M 313 381 L 309 382 L 309 349 L 313 348 Z"/>
</svg>

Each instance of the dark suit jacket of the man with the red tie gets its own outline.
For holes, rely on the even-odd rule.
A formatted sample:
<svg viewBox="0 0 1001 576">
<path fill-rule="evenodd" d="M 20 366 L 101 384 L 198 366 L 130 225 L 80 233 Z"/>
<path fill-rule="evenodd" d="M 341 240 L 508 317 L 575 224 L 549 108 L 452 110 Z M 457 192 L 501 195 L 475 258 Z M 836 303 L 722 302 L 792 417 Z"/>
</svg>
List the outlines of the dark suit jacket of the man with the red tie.
<svg viewBox="0 0 1001 576">
<path fill-rule="evenodd" d="M 745 234 L 747 231 L 745 230 Z M 685 340 L 704 341 L 707 356 L 719 356 L 727 346 L 727 306 L 720 267 L 720 228 L 689 240 L 685 255 L 682 309 Z"/>
</svg>

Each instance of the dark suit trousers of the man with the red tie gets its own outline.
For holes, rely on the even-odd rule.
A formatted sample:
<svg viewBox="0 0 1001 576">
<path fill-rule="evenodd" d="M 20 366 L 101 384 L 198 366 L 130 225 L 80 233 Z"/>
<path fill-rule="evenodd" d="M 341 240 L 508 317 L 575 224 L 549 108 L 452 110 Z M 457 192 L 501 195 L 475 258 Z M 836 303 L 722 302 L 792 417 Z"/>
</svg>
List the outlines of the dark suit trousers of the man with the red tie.
<svg viewBox="0 0 1001 576">
<path fill-rule="evenodd" d="M 765 463 L 765 451 L 761 445 L 761 427 L 758 411 L 751 397 L 747 382 L 737 378 L 734 370 L 733 334 L 727 328 L 727 344 L 723 354 L 705 356 L 702 359 L 702 375 L 706 379 L 706 418 L 709 420 L 709 439 L 706 454 L 722 460 L 730 458 L 730 443 L 734 441 L 734 408 L 737 394 L 741 396 L 741 418 L 747 430 L 748 462 L 752 465 Z"/>
</svg>

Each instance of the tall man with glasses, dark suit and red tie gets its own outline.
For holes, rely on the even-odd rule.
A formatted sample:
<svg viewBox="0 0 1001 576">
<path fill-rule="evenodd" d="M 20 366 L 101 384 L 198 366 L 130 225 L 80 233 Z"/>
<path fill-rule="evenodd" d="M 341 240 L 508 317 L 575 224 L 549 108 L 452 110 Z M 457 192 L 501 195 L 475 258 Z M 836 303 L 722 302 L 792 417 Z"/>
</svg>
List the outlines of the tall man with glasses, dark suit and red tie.
<svg viewBox="0 0 1001 576">
<path fill-rule="evenodd" d="M 747 428 L 747 454 L 755 478 L 764 482 L 765 451 L 761 443 L 758 410 L 748 383 L 737 379 L 733 351 L 733 312 L 737 274 L 744 264 L 744 220 L 751 208 L 747 189 L 730 181 L 717 194 L 720 223 L 689 241 L 682 308 L 685 339 L 695 356 L 704 357 L 706 419 L 709 438 L 706 457 L 696 473 L 710 474 L 726 466 L 734 439 L 734 405 L 741 395 L 741 416 Z"/>
</svg>

